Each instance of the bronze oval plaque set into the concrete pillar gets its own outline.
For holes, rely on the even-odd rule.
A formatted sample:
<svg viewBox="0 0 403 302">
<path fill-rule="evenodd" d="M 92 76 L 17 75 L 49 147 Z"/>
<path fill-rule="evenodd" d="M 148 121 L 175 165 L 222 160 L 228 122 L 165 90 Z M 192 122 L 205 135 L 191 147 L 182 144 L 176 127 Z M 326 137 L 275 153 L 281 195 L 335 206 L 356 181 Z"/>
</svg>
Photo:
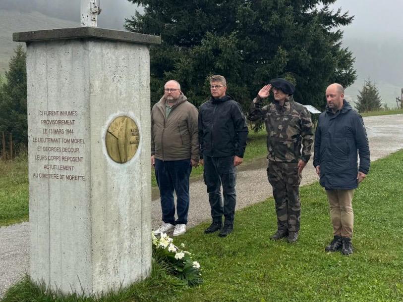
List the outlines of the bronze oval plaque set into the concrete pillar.
<svg viewBox="0 0 403 302">
<path fill-rule="evenodd" d="M 130 160 L 138 149 L 140 132 L 128 116 L 116 117 L 108 127 L 105 144 L 109 156 L 118 163 Z"/>
</svg>

